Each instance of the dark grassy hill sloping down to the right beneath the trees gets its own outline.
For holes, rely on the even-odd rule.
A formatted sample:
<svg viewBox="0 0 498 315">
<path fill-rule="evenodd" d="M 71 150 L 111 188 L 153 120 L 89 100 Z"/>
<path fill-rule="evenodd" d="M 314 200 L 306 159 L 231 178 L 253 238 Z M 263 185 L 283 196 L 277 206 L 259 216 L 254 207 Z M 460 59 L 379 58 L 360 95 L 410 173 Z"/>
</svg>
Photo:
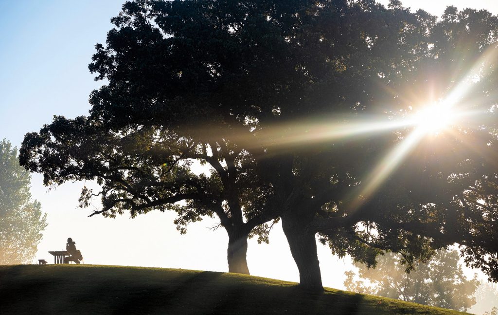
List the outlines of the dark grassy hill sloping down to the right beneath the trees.
<svg viewBox="0 0 498 315">
<path fill-rule="evenodd" d="M 206 271 L 0 266 L 1 314 L 461 314 L 397 300 Z"/>
</svg>

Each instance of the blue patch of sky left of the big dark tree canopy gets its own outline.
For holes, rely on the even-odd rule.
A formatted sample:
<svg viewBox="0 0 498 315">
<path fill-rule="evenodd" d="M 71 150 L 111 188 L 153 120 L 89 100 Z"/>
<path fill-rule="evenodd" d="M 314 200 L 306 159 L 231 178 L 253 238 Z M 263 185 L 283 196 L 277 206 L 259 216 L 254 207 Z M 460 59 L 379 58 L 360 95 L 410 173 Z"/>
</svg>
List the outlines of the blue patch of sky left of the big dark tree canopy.
<svg viewBox="0 0 498 315">
<path fill-rule="evenodd" d="M 88 64 L 121 0 L 0 1 L 0 135 L 19 146 L 53 115 L 88 112 Z"/>
</svg>

